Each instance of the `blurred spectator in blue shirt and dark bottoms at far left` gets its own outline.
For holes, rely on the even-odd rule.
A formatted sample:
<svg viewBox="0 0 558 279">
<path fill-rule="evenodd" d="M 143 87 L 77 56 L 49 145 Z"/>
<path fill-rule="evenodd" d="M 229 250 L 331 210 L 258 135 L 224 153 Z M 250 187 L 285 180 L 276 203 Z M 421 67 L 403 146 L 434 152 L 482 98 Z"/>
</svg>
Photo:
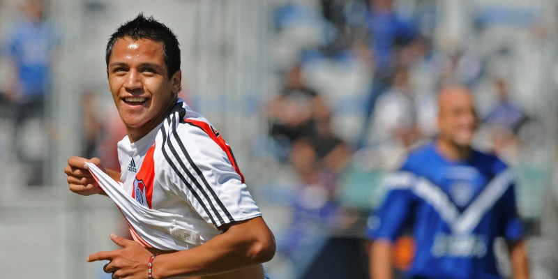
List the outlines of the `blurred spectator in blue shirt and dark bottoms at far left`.
<svg viewBox="0 0 558 279">
<path fill-rule="evenodd" d="M 21 5 L 23 17 L 13 24 L 3 44 L 3 54 L 14 80 L 6 82 L 6 98 L 13 105 L 13 150 L 20 160 L 26 161 L 22 146 L 22 128 L 28 119 L 45 123 L 45 103 L 50 91 L 52 61 L 58 43 L 56 30 L 44 13 L 42 0 L 26 0 Z M 47 131 L 40 134 L 47 135 Z M 40 174 L 42 165 L 34 171 Z M 37 175 L 38 181 L 42 179 Z"/>
</svg>

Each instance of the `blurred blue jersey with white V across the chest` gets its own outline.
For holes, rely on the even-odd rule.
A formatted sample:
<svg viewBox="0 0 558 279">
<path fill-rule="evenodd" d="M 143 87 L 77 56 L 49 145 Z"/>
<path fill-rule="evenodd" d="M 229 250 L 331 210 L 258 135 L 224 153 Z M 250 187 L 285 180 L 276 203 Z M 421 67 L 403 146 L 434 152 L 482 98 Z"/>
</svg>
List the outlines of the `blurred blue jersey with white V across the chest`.
<svg viewBox="0 0 558 279">
<path fill-rule="evenodd" d="M 393 242 L 411 226 L 416 247 L 408 278 L 502 278 L 495 238 L 516 241 L 524 233 L 513 174 L 502 160 L 473 151 L 468 160 L 451 161 L 427 144 L 386 179 L 386 187 L 366 234 Z"/>
</svg>

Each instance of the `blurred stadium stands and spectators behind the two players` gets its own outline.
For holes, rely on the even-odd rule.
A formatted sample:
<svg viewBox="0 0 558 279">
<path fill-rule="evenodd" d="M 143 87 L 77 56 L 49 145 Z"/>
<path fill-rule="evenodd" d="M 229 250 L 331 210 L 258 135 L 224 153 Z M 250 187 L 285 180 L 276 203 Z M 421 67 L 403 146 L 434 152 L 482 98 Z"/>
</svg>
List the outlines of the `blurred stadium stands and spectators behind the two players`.
<svg viewBox="0 0 558 279">
<path fill-rule="evenodd" d="M 532 278 L 558 278 L 555 0 L 0 0 L 4 276 L 107 278 L 85 257 L 126 227 L 109 199 L 71 195 L 63 167 L 118 168 L 105 45 L 140 12 L 179 38 L 181 98 L 232 146 L 276 235 L 272 278 L 367 278 L 382 178 L 435 137 L 450 81 L 474 91 L 475 146 L 518 175 Z M 403 238 L 398 269 L 411 257 Z"/>
</svg>

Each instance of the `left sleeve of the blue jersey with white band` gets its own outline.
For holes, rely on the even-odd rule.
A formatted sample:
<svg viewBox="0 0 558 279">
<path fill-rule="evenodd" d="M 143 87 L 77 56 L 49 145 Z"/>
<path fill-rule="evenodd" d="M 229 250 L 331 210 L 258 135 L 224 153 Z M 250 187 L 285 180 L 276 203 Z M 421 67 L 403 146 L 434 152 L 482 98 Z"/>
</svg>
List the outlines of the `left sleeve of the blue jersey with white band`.
<svg viewBox="0 0 558 279">
<path fill-rule="evenodd" d="M 412 187 L 416 179 L 409 172 L 395 172 L 385 181 L 386 197 L 379 208 L 368 218 L 366 236 L 368 239 L 395 241 L 407 222 L 414 203 Z"/>
</svg>

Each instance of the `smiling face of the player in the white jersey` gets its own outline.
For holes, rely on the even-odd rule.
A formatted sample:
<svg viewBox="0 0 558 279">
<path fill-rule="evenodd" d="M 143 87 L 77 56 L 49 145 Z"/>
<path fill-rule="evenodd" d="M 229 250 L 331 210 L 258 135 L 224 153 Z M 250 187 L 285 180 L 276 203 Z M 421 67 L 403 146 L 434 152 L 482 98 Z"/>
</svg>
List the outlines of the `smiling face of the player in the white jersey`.
<svg viewBox="0 0 558 279">
<path fill-rule="evenodd" d="M 163 45 L 153 40 L 116 40 L 107 68 L 110 91 L 131 142 L 155 128 L 176 103 L 181 71 L 169 78 Z"/>
</svg>

